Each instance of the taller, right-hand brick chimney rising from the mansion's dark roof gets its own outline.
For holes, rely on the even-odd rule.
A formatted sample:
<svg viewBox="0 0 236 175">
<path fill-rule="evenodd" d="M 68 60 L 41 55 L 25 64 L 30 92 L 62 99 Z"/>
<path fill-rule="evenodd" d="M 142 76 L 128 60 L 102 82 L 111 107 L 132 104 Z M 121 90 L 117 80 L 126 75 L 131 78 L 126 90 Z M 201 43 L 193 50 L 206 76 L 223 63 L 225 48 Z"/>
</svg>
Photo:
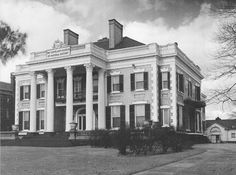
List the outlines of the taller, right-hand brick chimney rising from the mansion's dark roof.
<svg viewBox="0 0 236 175">
<path fill-rule="evenodd" d="M 115 19 L 109 20 L 109 49 L 115 48 L 123 38 L 123 25 Z"/>
</svg>

